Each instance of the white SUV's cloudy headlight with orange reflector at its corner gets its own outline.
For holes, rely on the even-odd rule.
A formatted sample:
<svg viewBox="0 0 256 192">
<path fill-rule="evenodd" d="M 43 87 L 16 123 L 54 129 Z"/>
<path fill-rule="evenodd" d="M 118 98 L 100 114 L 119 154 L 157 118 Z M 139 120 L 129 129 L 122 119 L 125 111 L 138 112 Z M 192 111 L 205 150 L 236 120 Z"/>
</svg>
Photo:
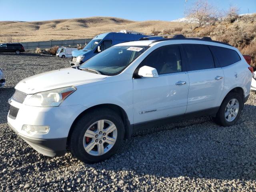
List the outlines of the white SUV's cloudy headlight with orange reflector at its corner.
<svg viewBox="0 0 256 192">
<path fill-rule="evenodd" d="M 24 104 L 35 107 L 56 107 L 72 94 L 76 88 L 64 87 L 32 95 Z"/>
</svg>

